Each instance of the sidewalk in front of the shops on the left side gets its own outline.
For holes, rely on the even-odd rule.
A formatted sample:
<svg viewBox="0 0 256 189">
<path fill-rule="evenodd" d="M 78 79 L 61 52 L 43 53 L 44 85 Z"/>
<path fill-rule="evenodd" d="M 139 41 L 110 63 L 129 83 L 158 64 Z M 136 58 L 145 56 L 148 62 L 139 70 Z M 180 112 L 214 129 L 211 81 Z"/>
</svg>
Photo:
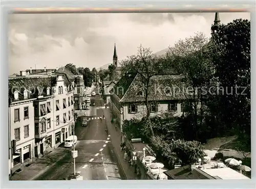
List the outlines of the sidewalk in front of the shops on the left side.
<svg viewBox="0 0 256 189">
<path fill-rule="evenodd" d="M 52 168 L 56 161 L 59 161 L 69 150 L 52 149 L 52 152 L 48 153 L 44 157 L 37 158 L 33 164 L 24 168 L 22 171 L 15 173 L 11 176 L 10 180 L 35 180 L 36 177 L 48 171 Z"/>
</svg>

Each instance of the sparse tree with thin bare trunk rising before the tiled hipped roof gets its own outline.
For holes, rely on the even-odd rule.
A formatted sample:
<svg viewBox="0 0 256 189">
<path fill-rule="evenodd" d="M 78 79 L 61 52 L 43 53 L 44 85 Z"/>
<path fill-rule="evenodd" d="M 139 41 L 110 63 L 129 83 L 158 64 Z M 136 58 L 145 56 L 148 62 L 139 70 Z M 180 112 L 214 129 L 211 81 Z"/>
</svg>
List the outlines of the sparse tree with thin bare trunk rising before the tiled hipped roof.
<svg viewBox="0 0 256 189">
<path fill-rule="evenodd" d="M 123 73 L 136 73 L 140 85 L 143 87 L 144 92 L 144 105 L 146 106 L 146 121 L 147 126 L 151 131 L 152 137 L 154 137 L 154 131 L 152 124 L 150 123 L 150 102 L 148 97 L 150 96 L 150 88 L 152 88 L 151 79 L 154 75 L 160 73 L 162 59 L 155 56 L 150 48 L 144 48 L 141 45 L 138 48 L 137 55 L 127 57 L 122 61 Z"/>
</svg>

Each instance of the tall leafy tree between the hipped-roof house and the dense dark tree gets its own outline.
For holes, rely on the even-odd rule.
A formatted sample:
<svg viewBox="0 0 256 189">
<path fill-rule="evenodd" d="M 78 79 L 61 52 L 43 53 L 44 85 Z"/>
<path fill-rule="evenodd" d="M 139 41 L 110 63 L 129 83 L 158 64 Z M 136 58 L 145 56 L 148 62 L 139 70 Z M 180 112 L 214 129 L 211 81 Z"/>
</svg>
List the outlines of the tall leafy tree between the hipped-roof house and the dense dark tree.
<svg viewBox="0 0 256 189">
<path fill-rule="evenodd" d="M 182 76 L 176 85 L 179 93 L 184 95 L 187 106 L 191 106 L 184 116 L 193 115 L 189 116 L 192 119 L 188 123 L 196 140 L 199 139 L 205 112 L 205 106 L 201 102 L 214 74 L 208 44 L 205 35 L 197 33 L 193 37 L 179 40 L 166 53 L 166 64 Z"/>
</svg>

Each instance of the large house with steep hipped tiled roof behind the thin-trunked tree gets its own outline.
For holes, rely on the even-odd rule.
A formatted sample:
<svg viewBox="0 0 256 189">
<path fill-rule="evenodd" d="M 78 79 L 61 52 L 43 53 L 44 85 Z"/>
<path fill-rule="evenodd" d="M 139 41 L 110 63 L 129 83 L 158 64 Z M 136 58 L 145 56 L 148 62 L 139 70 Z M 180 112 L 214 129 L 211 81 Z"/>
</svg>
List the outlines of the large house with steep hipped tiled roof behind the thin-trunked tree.
<svg viewBox="0 0 256 189">
<path fill-rule="evenodd" d="M 182 93 L 174 94 L 173 80 L 179 75 L 156 75 L 151 78 L 148 90 L 148 102 L 150 103 L 151 116 L 163 112 L 172 112 L 174 116 L 180 116 L 184 110 L 185 96 Z M 141 84 L 139 75 L 127 74 L 117 82 L 110 91 L 110 108 L 116 124 L 121 128 L 124 120 L 142 118 L 146 115 L 145 90 Z"/>
</svg>

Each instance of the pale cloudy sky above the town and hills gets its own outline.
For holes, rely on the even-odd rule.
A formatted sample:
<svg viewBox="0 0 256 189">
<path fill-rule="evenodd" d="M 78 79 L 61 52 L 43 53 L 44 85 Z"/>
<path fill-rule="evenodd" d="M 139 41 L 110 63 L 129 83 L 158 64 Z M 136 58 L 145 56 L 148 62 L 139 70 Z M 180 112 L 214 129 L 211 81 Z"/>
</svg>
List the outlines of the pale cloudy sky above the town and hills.
<svg viewBox="0 0 256 189">
<path fill-rule="evenodd" d="M 250 13 L 220 13 L 222 23 Z M 153 52 L 203 32 L 210 36 L 215 13 L 13 14 L 9 15 L 9 74 L 68 63 L 100 67 L 134 55 L 142 44 Z"/>
</svg>

